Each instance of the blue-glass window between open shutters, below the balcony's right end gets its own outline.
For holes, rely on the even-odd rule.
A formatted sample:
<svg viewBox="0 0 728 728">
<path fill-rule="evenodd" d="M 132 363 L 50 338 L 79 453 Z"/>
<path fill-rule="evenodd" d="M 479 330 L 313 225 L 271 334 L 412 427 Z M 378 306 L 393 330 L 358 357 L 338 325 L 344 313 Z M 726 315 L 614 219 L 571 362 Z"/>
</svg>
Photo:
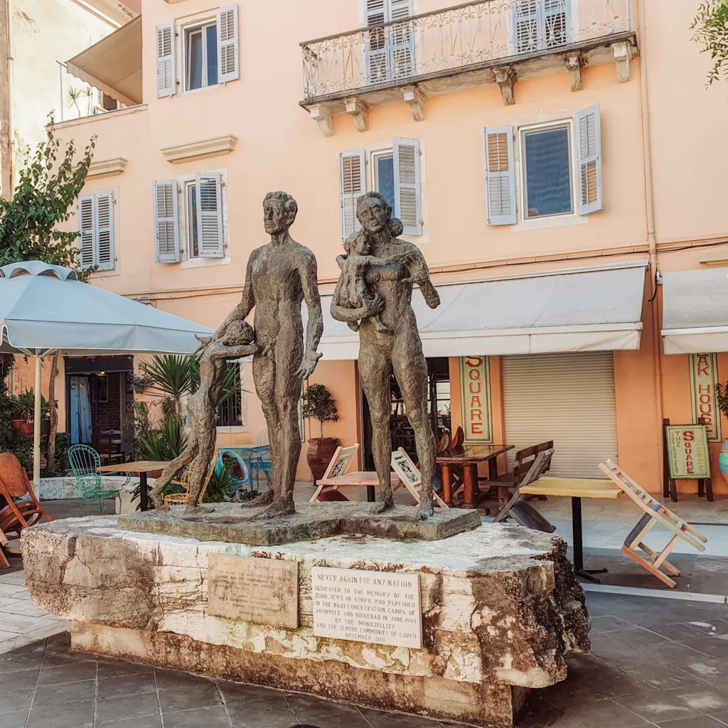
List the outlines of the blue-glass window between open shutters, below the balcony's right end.
<svg viewBox="0 0 728 728">
<path fill-rule="evenodd" d="M 574 212 L 569 127 L 523 132 L 524 219 Z"/>
</svg>

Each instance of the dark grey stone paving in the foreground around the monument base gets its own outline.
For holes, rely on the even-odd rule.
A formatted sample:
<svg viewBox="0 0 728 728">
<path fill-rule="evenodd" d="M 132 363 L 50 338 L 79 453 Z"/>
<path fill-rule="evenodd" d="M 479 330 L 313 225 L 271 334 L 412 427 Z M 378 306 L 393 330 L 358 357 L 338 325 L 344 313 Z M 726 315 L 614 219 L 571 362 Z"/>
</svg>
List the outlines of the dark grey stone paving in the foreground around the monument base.
<svg viewBox="0 0 728 728">
<path fill-rule="evenodd" d="M 728 606 L 590 593 L 593 654 L 531 693 L 520 728 L 728 725 Z M 427 719 L 68 652 L 0 655 L 2 728 L 441 728 Z"/>
</svg>

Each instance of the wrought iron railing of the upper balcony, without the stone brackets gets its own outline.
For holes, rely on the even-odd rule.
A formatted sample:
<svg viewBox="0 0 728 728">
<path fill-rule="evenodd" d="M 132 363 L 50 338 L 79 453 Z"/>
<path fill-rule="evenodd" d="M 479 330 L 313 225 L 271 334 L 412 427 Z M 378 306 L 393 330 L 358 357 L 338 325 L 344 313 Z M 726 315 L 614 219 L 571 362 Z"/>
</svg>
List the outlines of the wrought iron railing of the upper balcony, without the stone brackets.
<svg viewBox="0 0 728 728">
<path fill-rule="evenodd" d="M 485 0 L 301 44 L 304 100 L 548 55 L 630 28 L 630 0 Z"/>
</svg>

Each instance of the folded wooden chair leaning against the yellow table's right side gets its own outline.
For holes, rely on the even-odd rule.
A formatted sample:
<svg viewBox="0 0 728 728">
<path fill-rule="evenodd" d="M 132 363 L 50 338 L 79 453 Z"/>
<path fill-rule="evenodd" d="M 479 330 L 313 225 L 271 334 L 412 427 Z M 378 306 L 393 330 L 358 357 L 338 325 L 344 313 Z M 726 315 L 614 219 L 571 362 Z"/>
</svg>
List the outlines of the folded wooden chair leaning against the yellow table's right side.
<svg viewBox="0 0 728 728">
<path fill-rule="evenodd" d="M 676 569 L 668 561 L 670 551 L 678 545 L 680 539 L 689 543 L 689 545 L 698 551 L 704 551 L 705 546 L 703 544 L 707 543 L 708 539 L 691 526 L 688 526 L 685 521 L 678 518 L 677 515 L 665 508 L 660 502 L 656 501 L 647 491 L 638 486 L 622 468 L 612 462 L 612 460 L 607 460 L 606 465 L 604 463 L 599 464 L 599 469 L 614 480 L 614 483 L 617 483 L 622 488 L 622 491 L 630 496 L 638 507 L 644 511 L 644 515 L 625 539 L 624 545 L 622 545 L 622 551 L 672 589 L 675 587 L 675 582 L 660 571 L 660 566 L 665 566 L 665 569 L 670 574 L 673 574 L 675 577 L 680 576 L 680 570 Z M 644 538 L 652 530 L 653 526 L 657 526 L 658 523 L 660 526 L 665 526 L 673 535 L 670 537 L 667 545 L 661 551 L 656 552 L 644 543 Z M 646 558 L 639 555 L 636 549 L 640 549 L 646 555 Z"/>
</svg>

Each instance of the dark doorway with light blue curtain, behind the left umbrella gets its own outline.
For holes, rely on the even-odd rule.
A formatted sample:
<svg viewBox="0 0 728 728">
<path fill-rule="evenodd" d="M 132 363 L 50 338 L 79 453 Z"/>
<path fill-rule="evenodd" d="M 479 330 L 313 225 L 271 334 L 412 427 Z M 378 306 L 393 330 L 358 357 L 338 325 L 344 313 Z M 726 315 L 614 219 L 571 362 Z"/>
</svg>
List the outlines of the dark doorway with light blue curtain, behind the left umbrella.
<svg viewBox="0 0 728 728">
<path fill-rule="evenodd" d="M 71 445 L 84 443 L 104 456 L 125 456 L 134 436 L 133 358 L 66 357 L 65 363 Z"/>
</svg>

